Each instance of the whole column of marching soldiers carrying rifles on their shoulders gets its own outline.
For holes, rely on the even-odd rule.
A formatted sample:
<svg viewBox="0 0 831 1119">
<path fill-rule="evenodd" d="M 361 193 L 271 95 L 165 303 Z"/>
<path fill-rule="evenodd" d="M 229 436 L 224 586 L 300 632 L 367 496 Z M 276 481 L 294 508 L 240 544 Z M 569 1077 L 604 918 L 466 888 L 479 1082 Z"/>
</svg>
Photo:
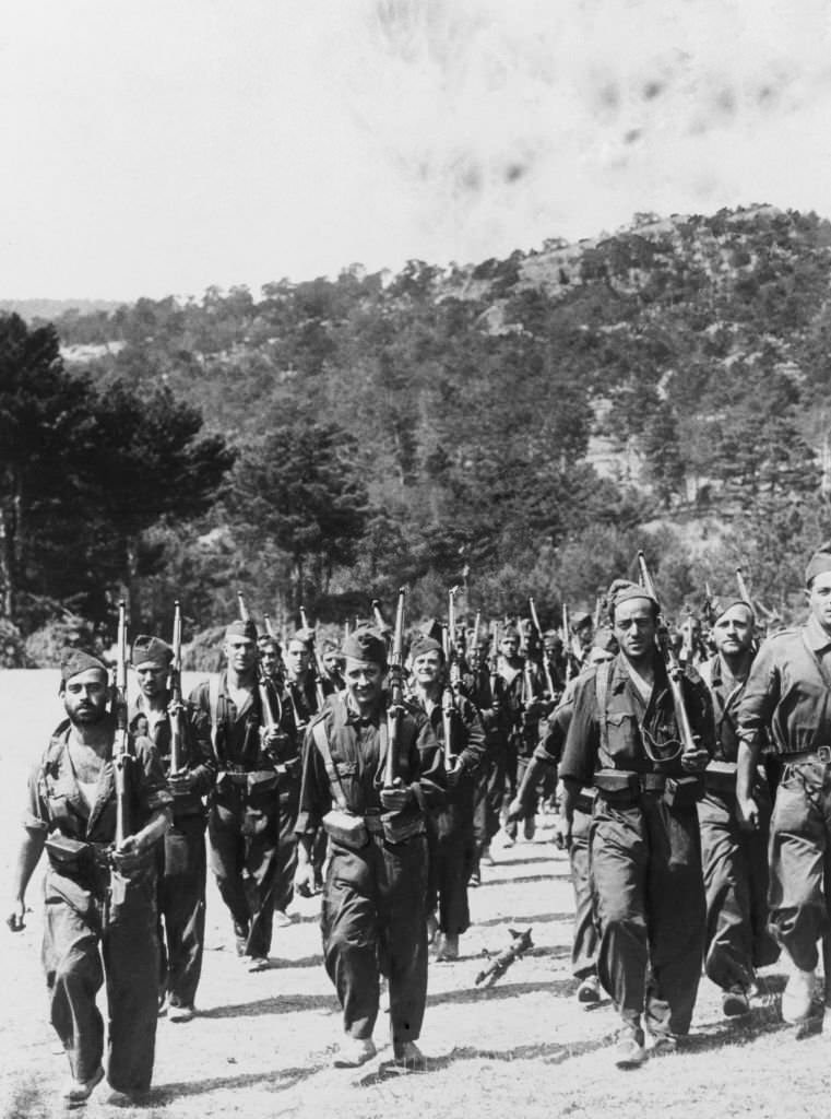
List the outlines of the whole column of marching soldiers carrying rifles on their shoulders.
<svg viewBox="0 0 831 1119">
<path fill-rule="evenodd" d="M 268 967 L 293 893 L 322 891 L 338 1066 L 374 1056 L 386 980 L 394 1060 L 424 1068 L 428 930 L 435 958 L 456 959 L 494 836 L 501 827 L 510 846 L 521 826 L 533 838 L 538 797 L 557 780 L 577 998 L 611 998 L 617 1068 L 683 1044 L 702 969 L 737 1017 L 782 952 L 782 1014 L 803 1023 L 830 923 L 831 547 L 811 558 L 805 595 L 808 623 L 758 653 L 753 604 L 728 601 L 711 618 L 711 656 L 682 669 L 649 577 L 613 582 L 603 626 L 506 624 L 461 649 L 417 634 L 408 671 L 400 624 L 391 641 L 359 627 L 320 658 L 302 628 L 284 661 L 246 617 L 226 629 L 225 670 L 187 702 L 170 684 L 177 650 L 140 636 L 129 835 L 116 827 L 107 668 L 68 650 L 67 717 L 29 783 L 8 918 L 22 928 L 46 849 L 64 1102 L 83 1104 L 104 1076 L 102 985 L 107 1080 L 131 1100 L 150 1087 L 159 1012 L 192 1018 L 208 863 L 249 971 Z M 766 755 L 780 762 L 776 790 Z"/>
</svg>

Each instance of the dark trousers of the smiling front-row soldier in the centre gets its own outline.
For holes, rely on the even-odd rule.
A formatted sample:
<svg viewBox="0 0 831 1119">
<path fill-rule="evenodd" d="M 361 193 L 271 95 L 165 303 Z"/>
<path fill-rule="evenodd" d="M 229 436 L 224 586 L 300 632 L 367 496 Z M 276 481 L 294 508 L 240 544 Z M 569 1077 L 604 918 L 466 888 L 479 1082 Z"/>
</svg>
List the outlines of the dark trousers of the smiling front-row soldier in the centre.
<svg viewBox="0 0 831 1119">
<path fill-rule="evenodd" d="M 390 844 L 372 833 L 360 850 L 330 841 L 323 886 L 323 958 L 352 1037 L 371 1037 L 379 972 L 389 980 L 394 1042 L 416 1041 L 427 999 L 427 840 Z"/>
</svg>

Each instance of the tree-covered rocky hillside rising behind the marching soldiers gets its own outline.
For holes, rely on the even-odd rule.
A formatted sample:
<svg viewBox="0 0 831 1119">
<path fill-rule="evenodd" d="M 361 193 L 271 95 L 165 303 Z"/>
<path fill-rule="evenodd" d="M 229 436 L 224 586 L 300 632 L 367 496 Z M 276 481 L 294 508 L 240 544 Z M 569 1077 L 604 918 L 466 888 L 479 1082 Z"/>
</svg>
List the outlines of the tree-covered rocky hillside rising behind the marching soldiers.
<svg viewBox="0 0 831 1119">
<path fill-rule="evenodd" d="M 168 386 L 240 449 L 340 433 L 368 513 L 351 562 L 318 565 L 320 594 L 406 580 L 434 609 L 469 564 L 472 604 L 591 603 L 645 542 L 673 604 L 744 562 L 786 611 L 831 527 L 830 281 L 831 224 L 756 206 L 55 325 L 70 369 Z"/>
</svg>

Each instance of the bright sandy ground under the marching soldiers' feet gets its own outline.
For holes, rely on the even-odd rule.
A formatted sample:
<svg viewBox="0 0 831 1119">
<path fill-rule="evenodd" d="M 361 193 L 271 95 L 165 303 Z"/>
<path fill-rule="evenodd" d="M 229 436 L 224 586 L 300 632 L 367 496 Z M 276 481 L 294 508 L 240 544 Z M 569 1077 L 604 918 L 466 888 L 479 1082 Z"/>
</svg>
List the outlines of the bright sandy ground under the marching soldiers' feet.
<svg viewBox="0 0 831 1119">
<path fill-rule="evenodd" d="M 189 686 L 191 681 L 186 681 Z M 57 673 L 0 673 L 0 819 L 2 873 L 18 841 L 26 773 L 60 717 Z M 472 892 L 473 928 L 462 958 L 432 963 L 422 1047 L 425 1073 L 390 1066 L 386 1022 L 378 1057 L 357 1071 L 330 1066 L 340 1016 L 321 961 L 319 900 L 294 903 L 293 923 L 275 931 L 272 967 L 240 971 L 230 927 L 213 887 L 199 1015 L 187 1025 L 162 1018 L 154 1087 L 147 1106 L 117 1108 L 96 1090 L 79 1112 L 166 1119 L 251 1116 L 350 1119 L 487 1119 L 602 1116 L 825 1116 L 831 1088 L 831 1036 L 816 1027 L 797 1041 L 778 1021 L 781 969 L 768 969 L 766 993 L 748 1021 L 727 1023 L 718 991 L 702 981 L 689 1049 L 651 1060 L 631 1073 L 611 1068 L 616 1019 L 607 1002 L 579 1007 L 569 974 L 572 895 L 565 856 L 550 843 L 550 821 L 538 819 L 532 843 L 494 844 L 497 865 Z M 6 1117 L 59 1115 L 54 1104 L 66 1060 L 46 1021 L 39 962 L 40 874 L 22 933 L 0 929 L 2 993 L 0 1107 Z M 8 909 L 8 906 L 7 906 Z M 6 911 L 4 911 L 6 913 Z M 531 925 L 533 950 L 490 990 L 475 986 L 483 951 L 509 942 L 509 928 Z M 384 1019 L 384 1015 L 381 1015 Z"/>
</svg>

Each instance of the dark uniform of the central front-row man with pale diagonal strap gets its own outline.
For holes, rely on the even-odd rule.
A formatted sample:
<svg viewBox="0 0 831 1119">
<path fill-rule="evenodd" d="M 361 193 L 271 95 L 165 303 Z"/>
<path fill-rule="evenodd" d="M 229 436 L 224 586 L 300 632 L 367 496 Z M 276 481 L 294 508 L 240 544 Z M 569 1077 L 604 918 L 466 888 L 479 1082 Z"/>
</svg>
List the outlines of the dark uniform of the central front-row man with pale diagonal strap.
<svg viewBox="0 0 831 1119">
<path fill-rule="evenodd" d="M 325 734 L 332 773 L 346 808 L 368 829 L 359 847 L 330 835 L 322 905 L 325 968 L 338 991 L 348 1035 L 371 1037 L 380 969 L 389 979 L 393 1041 L 412 1042 L 421 1033 L 427 991 L 424 812 L 437 806 L 444 794 L 441 747 L 423 715 L 408 712 L 399 718 L 398 775 L 410 788 L 414 802 L 402 814 L 399 825 L 406 826 L 400 827 L 400 838 L 387 838 L 384 820 L 389 814 L 383 814 L 380 800 L 385 706 L 363 717 L 348 697 L 331 697 L 306 732 L 303 745 L 296 830 L 304 836 L 314 834 L 338 799 L 315 742 L 318 726 Z"/>
</svg>

